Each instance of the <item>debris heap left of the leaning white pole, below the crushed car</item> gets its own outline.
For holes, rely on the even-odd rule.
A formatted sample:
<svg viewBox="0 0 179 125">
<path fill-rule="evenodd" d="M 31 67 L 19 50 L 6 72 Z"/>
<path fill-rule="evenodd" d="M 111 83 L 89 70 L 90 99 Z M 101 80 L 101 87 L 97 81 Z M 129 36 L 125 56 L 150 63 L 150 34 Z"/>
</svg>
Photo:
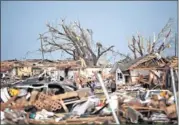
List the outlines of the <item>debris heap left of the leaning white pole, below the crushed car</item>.
<svg viewBox="0 0 179 125">
<path fill-rule="evenodd" d="M 112 116 L 100 117 L 95 110 L 101 100 L 95 95 L 89 96 L 89 89 L 56 93 L 58 84 L 53 90 L 41 90 L 19 86 L 8 88 L 9 100 L 1 102 L 1 121 L 4 124 L 84 124 L 94 121 L 97 124 L 112 122 Z M 38 85 L 37 85 L 38 86 Z M 16 87 L 16 88 L 15 88 Z M 22 86 L 21 86 L 22 87 Z M 18 88 L 18 89 L 17 89 Z M 21 88 L 22 89 L 22 88 Z M 65 90 L 64 90 L 65 91 Z M 23 92 L 23 93 L 22 93 Z M 2 95 L 6 96 L 6 95 Z M 79 110 L 80 109 L 80 110 Z M 101 109 L 101 108 L 100 108 Z M 110 112 L 110 111 L 109 111 Z M 97 115 L 98 114 L 98 115 Z"/>
</svg>

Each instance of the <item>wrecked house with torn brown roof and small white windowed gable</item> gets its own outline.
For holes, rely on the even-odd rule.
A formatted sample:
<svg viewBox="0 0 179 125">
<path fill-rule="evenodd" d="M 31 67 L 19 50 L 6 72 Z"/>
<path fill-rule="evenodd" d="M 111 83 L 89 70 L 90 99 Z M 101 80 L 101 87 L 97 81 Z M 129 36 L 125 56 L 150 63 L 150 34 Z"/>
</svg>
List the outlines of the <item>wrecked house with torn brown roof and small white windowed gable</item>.
<svg viewBox="0 0 179 125">
<path fill-rule="evenodd" d="M 116 80 L 122 78 L 120 77 L 122 73 L 122 80 L 125 83 L 137 83 L 140 75 L 147 76 L 149 70 L 160 68 L 166 63 L 168 60 L 165 58 L 150 54 L 128 62 L 117 62 L 110 72 L 116 75 Z"/>
</svg>

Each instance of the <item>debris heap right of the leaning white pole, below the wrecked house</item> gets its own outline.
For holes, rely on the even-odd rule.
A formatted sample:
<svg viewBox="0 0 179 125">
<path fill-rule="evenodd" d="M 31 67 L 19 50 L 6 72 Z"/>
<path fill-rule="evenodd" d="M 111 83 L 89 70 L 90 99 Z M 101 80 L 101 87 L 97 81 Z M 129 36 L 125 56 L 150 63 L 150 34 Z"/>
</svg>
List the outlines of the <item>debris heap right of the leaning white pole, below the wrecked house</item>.
<svg viewBox="0 0 179 125">
<path fill-rule="evenodd" d="M 128 97 L 126 94 L 119 96 L 119 109 L 122 117 L 128 119 L 128 122 L 167 122 L 175 123 L 177 121 L 176 105 L 174 96 L 170 91 L 155 90 L 148 95 L 145 100 L 134 97 Z"/>
</svg>

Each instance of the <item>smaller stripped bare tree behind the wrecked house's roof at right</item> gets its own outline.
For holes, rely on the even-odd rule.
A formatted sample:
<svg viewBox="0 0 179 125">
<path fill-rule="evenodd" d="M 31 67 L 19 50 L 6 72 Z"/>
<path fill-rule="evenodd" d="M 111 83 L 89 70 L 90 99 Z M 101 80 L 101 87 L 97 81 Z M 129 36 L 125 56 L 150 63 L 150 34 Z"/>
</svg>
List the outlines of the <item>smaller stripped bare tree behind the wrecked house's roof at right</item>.
<svg viewBox="0 0 179 125">
<path fill-rule="evenodd" d="M 147 40 L 146 46 L 144 47 L 144 38 L 137 34 L 137 39 L 135 36 L 132 36 L 132 41 L 128 43 L 129 49 L 132 51 L 134 58 L 138 58 L 137 55 L 143 56 L 145 54 L 151 54 L 151 53 L 161 53 L 166 48 L 169 47 L 171 43 L 171 37 L 172 36 L 172 24 L 174 20 L 170 18 L 167 22 L 167 24 L 162 28 L 160 33 L 157 35 L 157 39 L 154 39 L 153 42 L 151 42 L 151 38 Z M 170 38 L 170 39 L 169 39 Z M 147 50 L 147 51 L 146 51 Z M 145 52 L 146 51 L 146 52 Z"/>
</svg>

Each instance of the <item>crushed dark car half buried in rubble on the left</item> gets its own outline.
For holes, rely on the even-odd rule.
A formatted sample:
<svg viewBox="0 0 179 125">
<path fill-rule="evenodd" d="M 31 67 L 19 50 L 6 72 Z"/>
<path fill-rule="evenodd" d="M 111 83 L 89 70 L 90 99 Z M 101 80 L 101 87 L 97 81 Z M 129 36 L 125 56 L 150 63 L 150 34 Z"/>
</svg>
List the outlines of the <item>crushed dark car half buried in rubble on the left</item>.
<svg viewBox="0 0 179 125">
<path fill-rule="evenodd" d="M 33 79 L 28 79 L 23 82 L 21 81 L 17 82 L 16 84 L 11 85 L 10 87 L 1 88 L 1 101 L 7 102 L 11 98 L 12 95 L 9 92 L 10 88 L 18 89 L 20 91 L 25 90 L 27 92 L 38 90 L 47 94 L 52 93 L 54 95 L 76 91 L 78 94 L 80 94 L 81 97 L 85 96 L 84 94 L 81 94 L 83 92 L 86 92 L 87 94 L 90 93 L 89 88 L 78 90 L 76 86 L 71 85 L 71 84 L 65 84 L 65 83 L 59 83 L 59 82 L 45 82 L 45 81 L 40 82 L 38 81 L 37 78 L 33 78 Z M 75 100 L 75 98 L 71 100 Z"/>
</svg>

